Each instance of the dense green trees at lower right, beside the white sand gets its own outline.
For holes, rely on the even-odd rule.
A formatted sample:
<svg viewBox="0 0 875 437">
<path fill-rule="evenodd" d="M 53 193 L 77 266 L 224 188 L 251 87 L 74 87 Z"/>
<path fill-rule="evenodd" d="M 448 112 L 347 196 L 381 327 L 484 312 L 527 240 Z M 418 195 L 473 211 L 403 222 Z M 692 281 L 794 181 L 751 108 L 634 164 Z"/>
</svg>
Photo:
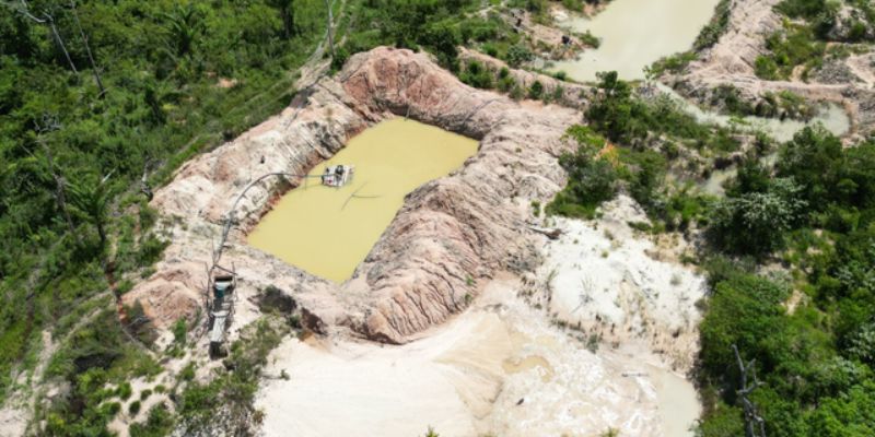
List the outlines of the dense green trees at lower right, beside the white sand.
<svg viewBox="0 0 875 437">
<path fill-rule="evenodd" d="M 806 128 L 773 168 L 745 162 L 709 218 L 702 434 L 740 426 L 732 344 L 756 359 L 769 435 L 875 434 L 875 142 Z"/>
</svg>

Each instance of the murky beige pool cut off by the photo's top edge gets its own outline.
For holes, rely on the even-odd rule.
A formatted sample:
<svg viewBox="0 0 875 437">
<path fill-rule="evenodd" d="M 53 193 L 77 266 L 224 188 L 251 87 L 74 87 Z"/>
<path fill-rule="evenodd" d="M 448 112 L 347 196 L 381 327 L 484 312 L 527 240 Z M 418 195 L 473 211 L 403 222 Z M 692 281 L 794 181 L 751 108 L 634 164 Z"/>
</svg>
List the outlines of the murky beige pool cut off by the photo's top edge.
<svg viewBox="0 0 875 437">
<path fill-rule="evenodd" d="M 714 14 L 719 0 L 614 0 L 592 20 L 572 17 L 559 24 L 590 31 L 602 39 L 597 49 L 578 59 L 556 62 L 578 81 L 595 81 L 599 71 L 617 71 L 626 80 L 644 79 L 644 67 L 692 48 L 699 31 Z"/>
</svg>

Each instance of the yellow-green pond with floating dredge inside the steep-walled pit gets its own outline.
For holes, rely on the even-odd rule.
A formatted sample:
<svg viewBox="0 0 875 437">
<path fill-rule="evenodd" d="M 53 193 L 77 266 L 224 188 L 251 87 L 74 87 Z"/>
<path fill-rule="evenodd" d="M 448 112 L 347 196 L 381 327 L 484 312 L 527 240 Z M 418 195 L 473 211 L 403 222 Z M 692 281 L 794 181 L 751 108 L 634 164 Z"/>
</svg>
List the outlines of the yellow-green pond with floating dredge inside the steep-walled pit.
<svg viewBox="0 0 875 437">
<path fill-rule="evenodd" d="M 312 172 L 319 175 L 328 165 L 352 165 L 351 184 L 329 188 L 311 179 L 289 191 L 248 241 L 310 273 L 346 281 L 407 193 L 460 167 L 476 152 L 477 141 L 433 126 L 401 118 L 383 121 Z"/>
</svg>

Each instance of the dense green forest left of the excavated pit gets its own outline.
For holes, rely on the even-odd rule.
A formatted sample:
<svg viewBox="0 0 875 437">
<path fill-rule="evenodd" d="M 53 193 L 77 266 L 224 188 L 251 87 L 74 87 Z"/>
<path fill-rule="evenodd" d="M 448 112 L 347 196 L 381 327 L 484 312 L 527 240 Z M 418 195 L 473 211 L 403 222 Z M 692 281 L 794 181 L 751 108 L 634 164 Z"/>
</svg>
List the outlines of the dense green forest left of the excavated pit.
<svg viewBox="0 0 875 437">
<path fill-rule="evenodd" d="M 124 327 L 114 306 L 164 246 L 149 231 L 141 179 L 160 186 L 186 158 L 285 106 L 294 70 L 322 40 L 325 2 L 0 10 L 0 400 L 30 390 L 46 366 L 46 380 L 71 387 L 37 412 L 47 433 L 101 435 L 118 410 L 103 401 L 124 395 L 124 385 L 105 385 L 160 370 L 122 331 L 148 341 L 148 324 Z"/>
</svg>

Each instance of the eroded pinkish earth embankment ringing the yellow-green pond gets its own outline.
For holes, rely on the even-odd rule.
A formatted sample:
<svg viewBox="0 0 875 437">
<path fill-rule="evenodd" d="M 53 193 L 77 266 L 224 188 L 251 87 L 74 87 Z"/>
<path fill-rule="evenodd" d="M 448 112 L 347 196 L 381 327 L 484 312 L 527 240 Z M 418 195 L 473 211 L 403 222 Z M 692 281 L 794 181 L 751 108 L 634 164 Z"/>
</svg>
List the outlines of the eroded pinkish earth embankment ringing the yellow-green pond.
<svg viewBox="0 0 875 437">
<path fill-rule="evenodd" d="M 350 137 L 383 119 L 407 116 L 480 140 L 478 153 L 454 174 L 415 190 L 353 277 L 335 284 L 252 248 L 245 233 L 294 177 L 340 150 Z M 240 274 L 238 293 L 267 285 L 290 294 L 314 323 L 350 328 L 400 343 L 463 309 L 479 280 L 532 265 L 537 257 L 524 220 L 530 200 L 562 186 L 556 157 L 580 113 L 516 103 L 474 90 L 427 55 L 376 48 L 353 56 L 335 79 L 299 94 L 282 114 L 184 165 L 152 201 L 171 246 L 156 273 L 125 295 L 140 300 L 156 324 L 194 318 L 206 293 L 206 265 L 222 222 L 236 203 L 236 227 L 221 263 Z M 467 296 L 467 297 L 466 297 Z M 246 318 L 246 315 L 240 315 Z"/>
</svg>

